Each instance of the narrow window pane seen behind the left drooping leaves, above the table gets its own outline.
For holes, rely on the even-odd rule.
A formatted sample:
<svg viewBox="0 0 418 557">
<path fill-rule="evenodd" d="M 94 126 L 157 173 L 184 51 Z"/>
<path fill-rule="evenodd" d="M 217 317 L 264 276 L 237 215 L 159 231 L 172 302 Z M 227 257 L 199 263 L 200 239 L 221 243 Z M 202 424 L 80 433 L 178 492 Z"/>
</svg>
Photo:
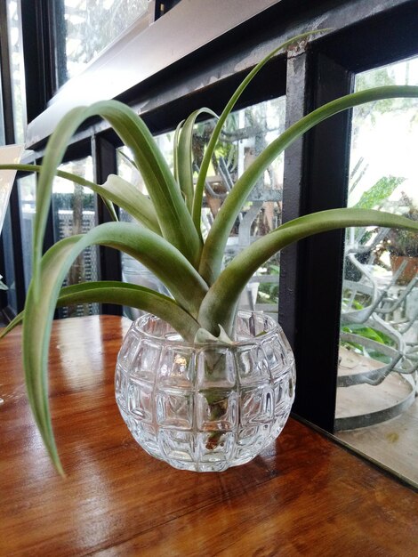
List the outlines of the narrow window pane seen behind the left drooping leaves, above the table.
<svg viewBox="0 0 418 557">
<path fill-rule="evenodd" d="M 92 157 L 85 157 L 60 165 L 61 170 L 78 174 L 92 181 Z M 55 238 L 67 238 L 91 230 L 96 224 L 94 195 L 79 184 L 56 177 L 52 189 L 52 207 Z M 64 286 L 99 279 L 99 248 L 84 249 L 71 266 Z M 75 317 L 99 313 L 98 303 L 63 308 L 62 317 Z"/>
</svg>

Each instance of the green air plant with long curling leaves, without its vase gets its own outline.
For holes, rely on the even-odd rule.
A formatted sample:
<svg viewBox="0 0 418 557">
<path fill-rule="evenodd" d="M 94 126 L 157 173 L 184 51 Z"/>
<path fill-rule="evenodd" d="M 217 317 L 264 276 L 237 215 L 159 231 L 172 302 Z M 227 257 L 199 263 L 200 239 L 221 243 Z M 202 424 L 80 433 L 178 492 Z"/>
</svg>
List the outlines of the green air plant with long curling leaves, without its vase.
<svg viewBox="0 0 418 557">
<path fill-rule="evenodd" d="M 149 311 L 170 323 L 189 342 L 208 339 L 229 343 L 239 296 L 259 267 L 279 250 L 319 232 L 349 226 L 377 225 L 418 232 L 418 222 L 395 214 L 368 209 L 342 208 L 308 214 L 285 222 L 276 230 L 245 247 L 222 269 L 222 257 L 237 215 L 265 169 L 294 141 L 313 126 L 334 114 L 359 104 L 396 97 L 418 97 L 418 87 L 385 86 L 349 94 L 329 102 L 291 125 L 272 141 L 237 179 L 224 200 L 204 241 L 201 211 L 205 179 L 220 138 L 222 126 L 241 93 L 253 77 L 280 50 L 306 38 L 295 36 L 270 52 L 245 77 L 232 95 L 205 147 L 194 183 L 193 129 L 198 117 L 214 116 L 198 109 L 176 130 L 174 170 L 170 171 L 157 143 L 141 117 L 118 101 L 99 101 L 72 109 L 50 137 L 42 166 L 13 165 L 23 171 L 39 172 L 33 243 L 33 277 L 25 309 L 5 335 L 23 320 L 23 361 L 28 399 L 36 424 L 52 461 L 62 472 L 48 402 L 47 358 L 55 307 L 74 303 L 117 303 Z M 58 166 L 73 133 L 89 117 L 103 117 L 124 144 L 141 172 L 149 196 L 141 194 L 121 177 L 109 175 L 102 184 L 61 172 Z M 4 167 L 4 166 L 3 166 Z M 2 167 L 0 167 L 2 168 Z M 58 174 L 90 188 L 103 198 L 115 222 L 100 224 L 83 235 L 61 239 L 44 255 L 42 246 L 52 181 Z M 132 215 L 134 222 L 117 222 L 114 204 Z M 61 287 L 71 263 L 87 246 L 114 247 L 146 265 L 168 288 L 172 298 L 145 287 L 117 281 L 100 281 Z"/>
</svg>

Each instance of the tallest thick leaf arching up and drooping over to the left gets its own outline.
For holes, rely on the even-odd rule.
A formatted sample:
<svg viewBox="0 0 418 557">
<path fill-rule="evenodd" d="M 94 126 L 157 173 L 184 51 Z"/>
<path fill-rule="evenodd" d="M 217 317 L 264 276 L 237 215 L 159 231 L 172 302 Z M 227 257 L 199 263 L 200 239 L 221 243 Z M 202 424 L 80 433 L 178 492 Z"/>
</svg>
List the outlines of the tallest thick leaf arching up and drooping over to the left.
<svg viewBox="0 0 418 557">
<path fill-rule="evenodd" d="M 164 238 L 197 266 L 201 251 L 200 238 L 189 211 L 181 198 L 178 185 L 170 173 L 157 143 L 132 109 L 118 101 L 99 101 L 90 107 L 72 109 L 60 120 L 48 141 L 36 192 L 34 223 L 33 274 L 40 272 L 44 230 L 52 191 L 52 180 L 60 165 L 68 141 L 76 128 L 88 117 L 100 116 L 109 121 L 125 145 L 132 149 L 135 164 L 141 171 L 149 197 L 156 208 L 157 219 Z M 34 282 L 34 295 L 41 295 L 39 280 Z"/>
</svg>

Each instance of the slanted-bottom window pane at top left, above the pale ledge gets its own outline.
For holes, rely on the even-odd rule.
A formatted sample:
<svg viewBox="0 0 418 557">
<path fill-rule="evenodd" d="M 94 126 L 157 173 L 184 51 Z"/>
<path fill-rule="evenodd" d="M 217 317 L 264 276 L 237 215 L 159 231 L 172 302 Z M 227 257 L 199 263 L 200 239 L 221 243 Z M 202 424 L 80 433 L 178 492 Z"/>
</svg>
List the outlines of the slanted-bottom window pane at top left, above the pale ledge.
<svg viewBox="0 0 418 557">
<path fill-rule="evenodd" d="M 148 0 L 59 0 L 53 6 L 60 86 L 147 13 Z"/>
</svg>

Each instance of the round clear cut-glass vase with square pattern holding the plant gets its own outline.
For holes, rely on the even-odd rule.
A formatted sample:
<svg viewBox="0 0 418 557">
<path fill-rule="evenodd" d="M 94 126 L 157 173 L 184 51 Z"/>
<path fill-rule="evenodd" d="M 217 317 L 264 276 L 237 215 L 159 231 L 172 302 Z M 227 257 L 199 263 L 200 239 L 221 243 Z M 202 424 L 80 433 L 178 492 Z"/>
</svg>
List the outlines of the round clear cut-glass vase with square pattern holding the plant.
<svg viewBox="0 0 418 557">
<path fill-rule="evenodd" d="M 239 311 L 232 346 L 192 344 L 162 319 L 133 322 L 117 405 L 133 438 L 175 468 L 221 472 L 275 440 L 294 399 L 293 352 L 269 316 Z"/>
</svg>

